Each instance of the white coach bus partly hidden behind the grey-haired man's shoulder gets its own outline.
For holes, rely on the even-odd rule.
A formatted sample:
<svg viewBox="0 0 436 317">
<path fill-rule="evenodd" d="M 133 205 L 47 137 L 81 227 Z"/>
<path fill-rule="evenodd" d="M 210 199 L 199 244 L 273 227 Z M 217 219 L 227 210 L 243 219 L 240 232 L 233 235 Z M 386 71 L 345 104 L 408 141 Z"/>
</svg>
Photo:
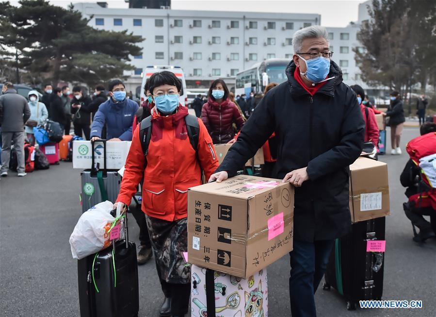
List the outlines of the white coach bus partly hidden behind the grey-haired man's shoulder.
<svg viewBox="0 0 436 317">
<path fill-rule="evenodd" d="M 263 93 L 268 83 L 285 82 L 285 70 L 289 62 L 290 59 L 271 58 L 239 72 L 236 75 L 235 95 Z"/>
</svg>

